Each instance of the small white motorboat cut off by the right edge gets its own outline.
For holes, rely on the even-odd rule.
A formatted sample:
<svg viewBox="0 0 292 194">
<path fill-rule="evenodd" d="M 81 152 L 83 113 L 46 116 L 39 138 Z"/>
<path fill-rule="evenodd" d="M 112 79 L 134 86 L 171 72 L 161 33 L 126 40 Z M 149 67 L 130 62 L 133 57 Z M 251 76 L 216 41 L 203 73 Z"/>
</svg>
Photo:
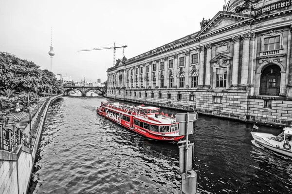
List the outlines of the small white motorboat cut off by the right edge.
<svg viewBox="0 0 292 194">
<path fill-rule="evenodd" d="M 258 129 L 258 127 L 254 128 Z M 292 127 L 286 127 L 284 131 L 278 135 L 267 133 L 251 132 L 256 143 L 270 149 L 278 154 L 292 157 Z"/>
</svg>

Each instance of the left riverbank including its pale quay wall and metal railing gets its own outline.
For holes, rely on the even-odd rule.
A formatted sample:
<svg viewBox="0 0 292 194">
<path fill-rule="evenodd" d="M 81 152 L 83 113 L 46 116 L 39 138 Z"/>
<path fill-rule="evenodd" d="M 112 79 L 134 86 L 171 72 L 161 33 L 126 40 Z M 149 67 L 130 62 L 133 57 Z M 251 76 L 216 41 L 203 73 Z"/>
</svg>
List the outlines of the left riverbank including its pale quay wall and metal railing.
<svg viewBox="0 0 292 194">
<path fill-rule="evenodd" d="M 31 119 L 15 122 L 12 115 L 8 126 L 0 125 L 0 194 L 27 193 L 48 107 L 53 100 L 62 96 L 44 98 L 38 108 L 32 111 Z"/>
</svg>

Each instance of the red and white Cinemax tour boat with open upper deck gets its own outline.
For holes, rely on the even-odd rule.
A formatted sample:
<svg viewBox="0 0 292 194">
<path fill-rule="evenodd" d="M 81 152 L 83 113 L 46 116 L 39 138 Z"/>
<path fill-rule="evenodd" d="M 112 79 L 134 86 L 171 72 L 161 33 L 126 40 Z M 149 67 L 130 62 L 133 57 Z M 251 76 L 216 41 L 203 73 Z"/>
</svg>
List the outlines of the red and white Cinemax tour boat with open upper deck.
<svg viewBox="0 0 292 194">
<path fill-rule="evenodd" d="M 179 122 L 152 106 L 130 106 L 119 102 L 101 102 L 96 112 L 127 129 L 150 139 L 179 141 Z"/>
</svg>

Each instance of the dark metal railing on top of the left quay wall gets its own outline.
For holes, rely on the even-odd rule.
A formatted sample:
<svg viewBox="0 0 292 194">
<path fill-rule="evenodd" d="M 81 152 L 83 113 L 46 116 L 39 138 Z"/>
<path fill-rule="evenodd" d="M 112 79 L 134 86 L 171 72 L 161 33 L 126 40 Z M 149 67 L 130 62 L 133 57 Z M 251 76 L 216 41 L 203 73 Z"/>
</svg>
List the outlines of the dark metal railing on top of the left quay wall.
<svg viewBox="0 0 292 194">
<path fill-rule="evenodd" d="M 15 123 L 10 125 L 4 125 L 4 123 L 0 123 L 0 150 L 14 152 L 15 148 L 20 144 L 30 148 L 33 143 L 32 137 L 37 133 L 41 117 L 43 116 L 43 112 L 49 102 L 49 99 L 50 98 L 48 97 L 43 103 L 43 106 L 38 112 L 36 121 L 28 135 L 24 134 L 21 129 L 15 125 Z"/>
</svg>

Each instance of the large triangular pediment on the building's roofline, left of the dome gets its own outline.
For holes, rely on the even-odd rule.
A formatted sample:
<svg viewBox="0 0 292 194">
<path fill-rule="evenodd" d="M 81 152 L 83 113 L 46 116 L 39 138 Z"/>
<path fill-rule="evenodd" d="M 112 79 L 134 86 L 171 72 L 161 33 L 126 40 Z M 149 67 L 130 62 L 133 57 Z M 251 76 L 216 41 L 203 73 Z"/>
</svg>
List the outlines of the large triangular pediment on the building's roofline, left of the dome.
<svg viewBox="0 0 292 194">
<path fill-rule="evenodd" d="M 245 14 L 235 14 L 220 11 L 213 19 L 203 20 L 201 23 L 201 35 L 216 32 L 218 30 L 232 27 L 234 25 L 244 25 L 248 20 L 252 19 L 251 16 Z"/>
</svg>

